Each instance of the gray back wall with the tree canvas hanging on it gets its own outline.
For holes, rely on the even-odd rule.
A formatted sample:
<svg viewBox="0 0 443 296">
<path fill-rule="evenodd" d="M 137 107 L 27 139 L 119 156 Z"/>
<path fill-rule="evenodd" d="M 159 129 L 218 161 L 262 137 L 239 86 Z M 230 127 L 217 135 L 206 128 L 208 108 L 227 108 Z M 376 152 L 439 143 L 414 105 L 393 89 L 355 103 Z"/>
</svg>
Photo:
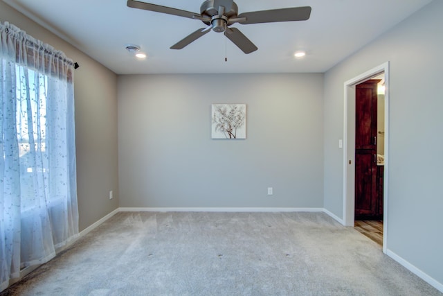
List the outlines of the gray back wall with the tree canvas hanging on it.
<svg viewBox="0 0 443 296">
<path fill-rule="evenodd" d="M 211 139 L 213 103 L 246 139 Z M 323 74 L 119 76 L 118 134 L 120 207 L 323 207 Z"/>
</svg>

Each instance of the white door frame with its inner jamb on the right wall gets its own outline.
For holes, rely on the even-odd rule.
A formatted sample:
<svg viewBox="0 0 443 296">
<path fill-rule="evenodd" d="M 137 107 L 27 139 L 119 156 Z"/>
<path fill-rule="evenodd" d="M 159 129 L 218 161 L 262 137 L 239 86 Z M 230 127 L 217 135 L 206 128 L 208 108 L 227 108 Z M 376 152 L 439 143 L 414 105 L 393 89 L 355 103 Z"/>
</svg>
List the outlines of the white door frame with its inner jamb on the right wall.
<svg viewBox="0 0 443 296">
<path fill-rule="evenodd" d="M 354 226 L 355 207 L 355 86 L 384 73 L 385 76 L 385 155 L 383 173 L 383 253 L 388 250 L 388 169 L 389 169 L 389 62 L 361 73 L 344 83 L 343 128 L 343 222 Z"/>
</svg>

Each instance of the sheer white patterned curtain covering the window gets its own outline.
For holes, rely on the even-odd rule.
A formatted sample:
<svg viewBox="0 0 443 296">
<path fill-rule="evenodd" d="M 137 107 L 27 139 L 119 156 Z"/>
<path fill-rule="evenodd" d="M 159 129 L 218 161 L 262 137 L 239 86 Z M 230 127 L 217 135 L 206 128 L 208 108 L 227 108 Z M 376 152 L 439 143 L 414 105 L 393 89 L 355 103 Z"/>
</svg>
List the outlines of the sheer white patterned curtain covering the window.
<svg viewBox="0 0 443 296">
<path fill-rule="evenodd" d="M 0 24 L 0 290 L 78 234 L 73 62 Z"/>
</svg>

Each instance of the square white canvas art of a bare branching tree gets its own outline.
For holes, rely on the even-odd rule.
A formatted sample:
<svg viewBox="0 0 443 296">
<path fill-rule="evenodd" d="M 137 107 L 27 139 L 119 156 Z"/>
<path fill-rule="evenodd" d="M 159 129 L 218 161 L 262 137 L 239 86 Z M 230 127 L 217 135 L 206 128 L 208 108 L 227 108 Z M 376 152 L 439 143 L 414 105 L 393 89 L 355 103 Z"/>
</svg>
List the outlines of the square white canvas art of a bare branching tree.
<svg viewBox="0 0 443 296">
<path fill-rule="evenodd" d="M 246 139 L 246 104 L 212 105 L 213 139 Z"/>
</svg>

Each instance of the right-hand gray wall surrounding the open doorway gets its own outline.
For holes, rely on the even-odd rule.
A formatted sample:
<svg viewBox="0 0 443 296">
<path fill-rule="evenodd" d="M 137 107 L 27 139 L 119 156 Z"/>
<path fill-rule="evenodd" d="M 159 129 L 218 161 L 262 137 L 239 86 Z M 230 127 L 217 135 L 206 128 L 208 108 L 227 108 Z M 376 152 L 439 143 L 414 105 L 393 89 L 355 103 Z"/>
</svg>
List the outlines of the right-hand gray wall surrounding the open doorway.
<svg viewBox="0 0 443 296">
<path fill-rule="evenodd" d="M 390 61 L 388 252 L 443 283 L 443 1 L 325 73 L 325 208 L 343 216 L 343 83 Z M 441 285 L 441 284 L 440 284 Z"/>
</svg>

